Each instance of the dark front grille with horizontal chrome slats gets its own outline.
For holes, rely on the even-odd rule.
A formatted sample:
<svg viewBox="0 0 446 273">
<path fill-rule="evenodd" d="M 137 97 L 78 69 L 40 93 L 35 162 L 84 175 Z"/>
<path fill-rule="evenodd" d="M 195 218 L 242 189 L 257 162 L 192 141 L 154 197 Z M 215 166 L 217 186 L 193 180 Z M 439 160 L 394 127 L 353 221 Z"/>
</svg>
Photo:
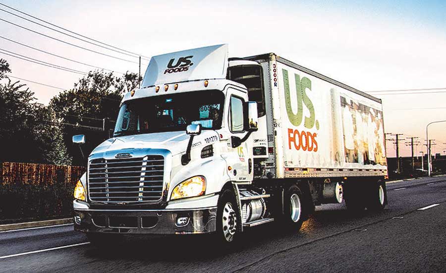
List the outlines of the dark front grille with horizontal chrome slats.
<svg viewBox="0 0 446 273">
<path fill-rule="evenodd" d="M 88 193 L 91 201 L 150 202 L 163 195 L 164 157 L 93 159 L 88 165 Z"/>
</svg>

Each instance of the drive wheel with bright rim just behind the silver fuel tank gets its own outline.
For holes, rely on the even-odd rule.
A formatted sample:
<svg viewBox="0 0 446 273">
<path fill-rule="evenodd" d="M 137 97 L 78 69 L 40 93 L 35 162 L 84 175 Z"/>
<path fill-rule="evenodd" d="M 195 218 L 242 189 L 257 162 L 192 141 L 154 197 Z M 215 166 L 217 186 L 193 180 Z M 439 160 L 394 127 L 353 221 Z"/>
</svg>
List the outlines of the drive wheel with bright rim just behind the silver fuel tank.
<svg viewBox="0 0 446 273">
<path fill-rule="evenodd" d="M 305 206 L 308 202 L 305 202 L 303 194 L 297 185 L 292 185 L 285 191 L 283 202 L 282 224 L 288 230 L 299 230 L 303 221 L 307 218 Z"/>
</svg>

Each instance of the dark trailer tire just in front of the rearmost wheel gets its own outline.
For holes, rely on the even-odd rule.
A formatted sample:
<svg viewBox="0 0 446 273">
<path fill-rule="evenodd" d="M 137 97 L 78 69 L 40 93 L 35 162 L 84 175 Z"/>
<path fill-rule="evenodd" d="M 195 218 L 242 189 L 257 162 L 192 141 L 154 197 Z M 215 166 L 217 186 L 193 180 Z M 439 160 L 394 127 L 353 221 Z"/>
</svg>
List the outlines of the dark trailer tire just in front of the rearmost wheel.
<svg viewBox="0 0 446 273">
<path fill-rule="evenodd" d="M 360 182 L 349 182 L 344 185 L 344 200 L 347 210 L 358 216 L 362 214 L 366 208 L 366 200 L 364 189 L 362 189 Z"/>
</svg>

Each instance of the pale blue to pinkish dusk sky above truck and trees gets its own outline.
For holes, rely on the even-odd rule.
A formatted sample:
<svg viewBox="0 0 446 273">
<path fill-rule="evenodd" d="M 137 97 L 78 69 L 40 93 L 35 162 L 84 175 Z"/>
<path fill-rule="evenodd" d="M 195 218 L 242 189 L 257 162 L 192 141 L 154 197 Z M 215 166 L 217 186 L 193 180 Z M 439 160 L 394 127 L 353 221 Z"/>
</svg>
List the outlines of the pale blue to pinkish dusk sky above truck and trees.
<svg viewBox="0 0 446 273">
<path fill-rule="evenodd" d="M 274 52 L 366 92 L 446 87 L 446 1 L 0 2 L 147 57 L 225 43 L 229 44 L 231 57 Z M 12 11 L 1 5 L 0 8 Z M 75 48 L 0 21 L 3 38 L 97 67 L 138 72 L 137 58 L 89 45 L 2 10 L 0 19 L 130 62 Z M 1 37 L 1 50 L 79 71 L 92 69 Z M 0 58 L 9 62 L 12 76 L 63 89 L 72 88 L 82 77 L 1 53 Z M 142 74 L 147 64 L 144 60 Z M 26 83 L 35 92 L 38 102 L 44 104 L 61 91 Z M 379 95 L 379 92 L 372 92 L 383 99 L 385 131 L 405 137 L 418 136 L 423 143 L 426 125 L 446 120 L 446 89 L 431 91 L 437 93 L 402 91 L 399 95 L 395 92 Z M 429 138 L 436 139 L 437 143 L 433 152 L 445 154 L 445 132 L 446 123 L 429 127 Z M 422 143 L 416 147 L 417 154 L 426 151 Z M 404 141 L 400 144 L 401 155 L 410 155 L 410 148 Z M 387 147 L 388 156 L 394 156 L 391 141 L 387 142 Z"/>
</svg>

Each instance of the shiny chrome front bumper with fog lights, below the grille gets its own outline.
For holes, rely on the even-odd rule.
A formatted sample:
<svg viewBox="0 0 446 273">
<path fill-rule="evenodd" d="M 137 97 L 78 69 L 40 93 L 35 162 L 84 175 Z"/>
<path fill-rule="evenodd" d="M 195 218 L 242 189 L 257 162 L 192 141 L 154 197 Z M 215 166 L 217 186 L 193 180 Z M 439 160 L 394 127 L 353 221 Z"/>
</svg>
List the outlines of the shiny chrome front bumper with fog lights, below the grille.
<svg viewBox="0 0 446 273">
<path fill-rule="evenodd" d="M 199 209 L 74 209 L 74 229 L 126 234 L 199 234 L 216 230 L 217 207 Z M 178 221 L 178 218 L 181 218 Z"/>
</svg>

